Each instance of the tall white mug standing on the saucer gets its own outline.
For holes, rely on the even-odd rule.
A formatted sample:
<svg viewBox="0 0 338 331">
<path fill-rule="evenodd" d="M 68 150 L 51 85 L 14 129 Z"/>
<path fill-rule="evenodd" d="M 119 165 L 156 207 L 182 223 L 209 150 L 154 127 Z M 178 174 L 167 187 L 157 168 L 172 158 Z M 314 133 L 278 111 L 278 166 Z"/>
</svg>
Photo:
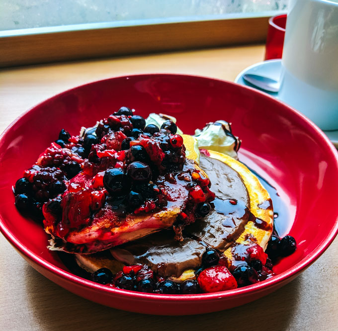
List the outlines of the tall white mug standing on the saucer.
<svg viewBox="0 0 338 331">
<path fill-rule="evenodd" d="M 278 97 L 338 129 L 338 0 L 290 0 Z"/>
</svg>

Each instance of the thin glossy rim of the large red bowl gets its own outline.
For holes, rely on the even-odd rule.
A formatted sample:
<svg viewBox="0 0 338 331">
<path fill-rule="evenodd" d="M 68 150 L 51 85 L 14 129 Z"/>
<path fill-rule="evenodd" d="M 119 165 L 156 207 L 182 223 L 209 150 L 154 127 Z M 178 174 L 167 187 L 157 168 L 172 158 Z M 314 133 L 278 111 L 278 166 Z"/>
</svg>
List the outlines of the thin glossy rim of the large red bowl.
<svg viewBox="0 0 338 331">
<path fill-rule="evenodd" d="M 130 78 L 130 77 L 138 77 L 140 79 L 142 78 L 147 78 L 147 77 L 156 77 L 156 76 L 175 76 L 175 77 L 193 77 L 193 78 L 198 78 L 198 79 L 207 79 L 210 81 L 215 81 L 215 82 L 223 82 L 223 83 L 228 83 L 228 84 L 234 84 L 234 85 L 239 85 L 237 83 L 233 82 L 228 82 L 228 81 L 223 81 L 219 79 L 213 79 L 209 77 L 203 77 L 203 76 L 193 76 L 193 75 L 184 75 L 184 74 L 142 74 L 142 75 L 128 75 L 128 76 L 119 76 L 119 77 L 114 77 L 110 79 L 104 79 L 96 82 L 91 82 L 91 83 L 86 83 L 83 85 L 79 85 L 76 87 L 73 87 L 71 89 L 68 89 L 66 91 L 63 91 L 61 93 L 58 93 L 42 102 L 39 102 L 37 105 L 31 107 L 29 110 L 24 112 L 22 115 L 17 117 L 0 135 L 0 141 L 3 139 L 3 137 L 6 135 L 6 133 L 18 122 L 20 121 L 28 112 L 34 111 L 34 109 L 39 106 L 40 104 L 52 100 L 54 98 L 59 97 L 60 95 L 64 93 L 68 93 L 72 90 L 75 90 L 79 87 L 83 86 L 88 86 L 91 84 L 99 83 L 99 82 L 104 82 L 104 81 L 110 81 L 113 79 L 118 79 L 118 78 Z M 322 139 L 323 143 L 326 143 L 327 148 L 329 151 L 332 152 L 332 161 L 336 161 L 338 163 L 338 152 L 333 146 L 333 144 L 330 142 L 329 138 L 313 123 L 311 122 L 308 118 L 306 118 L 303 114 L 298 112 L 297 110 L 291 108 L 287 104 L 285 104 L 282 101 L 279 101 L 272 96 L 261 92 L 253 87 L 250 86 L 244 86 L 244 85 L 239 85 L 240 88 L 242 89 L 247 89 L 251 90 L 253 93 L 260 94 L 264 98 L 271 98 L 274 100 L 274 102 L 277 102 L 279 104 L 282 104 L 284 108 L 286 108 L 289 113 L 291 113 L 293 116 L 298 116 L 301 117 L 302 120 L 307 124 L 308 128 L 314 130 L 317 132 L 319 137 Z M 134 291 L 128 291 L 128 290 L 120 290 L 116 288 L 112 288 L 109 286 L 105 285 L 100 285 L 98 283 L 94 283 L 92 281 L 86 280 L 82 277 L 76 276 L 68 271 L 64 271 L 59 267 L 56 267 L 50 262 L 47 262 L 43 258 L 40 258 L 38 255 L 36 255 L 34 252 L 31 250 L 27 249 L 24 245 L 22 245 L 19 240 L 17 240 L 13 234 L 6 228 L 2 221 L 2 217 L 0 216 L 0 231 L 4 235 L 4 237 L 11 243 L 14 248 L 16 248 L 19 252 L 27 256 L 30 260 L 32 260 L 34 263 L 38 264 L 39 266 L 43 267 L 44 269 L 47 269 L 51 273 L 56 274 L 57 276 L 60 276 L 70 282 L 74 282 L 78 285 L 87 287 L 87 288 L 92 288 L 92 289 L 97 289 L 99 291 L 105 292 L 107 294 L 116 294 L 116 295 L 123 295 L 125 297 L 129 297 L 130 299 L 150 299 L 150 300 L 155 300 L 155 301 L 194 301 L 194 300 L 200 300 L 200 301 L 208 301 L 208 300 L 214 300 L 214 299 L 230 299 L 231 297 L 234 296 L 243 296 L 247 294 L 251 294 L 253 292 L 259 292 L 269 286 L 277 285 L 281 281 L 285 281 L 287 278 L 291 276 L 295 276 L 298 273 L 300 273 L 303 269 L 308 267 L 310 264 L 312 264 L 321 254 L 324 253 L 324 251 L 330 246 L 330 244 L 333 242 L 335 237 L 338 234 L 338 219 L 336 220 L 335 226 L 330 229 L 328 236 L 323 240 L 323 242 L 317 247 L 317 249 L 310 253 L 308 256 L 304 257 L 299 263 L 293 265 L 291 268 L 288 270 L 268 279 L 264 280 L 263 282 L 259 282 L 250 286 L 246 286 L 240 289 L 235 289 L 235 290 L 229 290 L 229 291 L 223 291 L 223 292 L 215 292 L 215 293 L 203 293 L 203 294 L 190 294 L 190 295 L 166 295 L 166 294 L 148 294 L 148 293 L 140 293 L 140 292 L 134 292 Z"/>
</svg>

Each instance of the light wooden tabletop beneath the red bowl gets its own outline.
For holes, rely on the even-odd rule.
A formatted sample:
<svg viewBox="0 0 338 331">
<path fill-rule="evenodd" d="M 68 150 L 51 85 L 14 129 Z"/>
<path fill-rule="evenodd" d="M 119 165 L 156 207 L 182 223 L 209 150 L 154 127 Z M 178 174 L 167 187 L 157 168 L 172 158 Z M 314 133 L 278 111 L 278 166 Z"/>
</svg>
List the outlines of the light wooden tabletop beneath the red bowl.
<svg viewBox="0 0 338 331">
<path fill-rule="evenodd" d="M 0 71 L 0 132 L 22 112 L 70 87 L 136 73 L 233 81 L 263 46 L 133 56 Z M 228 311 L 161 317 L 110 309 L 67 292 L 31 268 L 0 235 L 0 330 L 338 330 L 338 240 L 296 280 Z"/>
</svg>

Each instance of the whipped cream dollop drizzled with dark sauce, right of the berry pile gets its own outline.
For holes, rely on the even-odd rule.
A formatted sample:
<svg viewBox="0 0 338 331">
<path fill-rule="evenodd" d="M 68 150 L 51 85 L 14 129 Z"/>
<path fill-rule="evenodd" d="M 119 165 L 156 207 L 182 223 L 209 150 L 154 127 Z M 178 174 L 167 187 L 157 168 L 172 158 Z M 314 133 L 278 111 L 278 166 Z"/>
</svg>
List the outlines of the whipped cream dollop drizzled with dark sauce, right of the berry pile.
<svg viewBox="0 0 338 331">
<path fill-rule="evenodd" d="M 210 122 L 202 130 L 196 129 L 194 137 L 198 141 L 198 148 L 223 153 L 238 160 L 241 141 L 232 134 L 228 122 Z"/>
</svg>

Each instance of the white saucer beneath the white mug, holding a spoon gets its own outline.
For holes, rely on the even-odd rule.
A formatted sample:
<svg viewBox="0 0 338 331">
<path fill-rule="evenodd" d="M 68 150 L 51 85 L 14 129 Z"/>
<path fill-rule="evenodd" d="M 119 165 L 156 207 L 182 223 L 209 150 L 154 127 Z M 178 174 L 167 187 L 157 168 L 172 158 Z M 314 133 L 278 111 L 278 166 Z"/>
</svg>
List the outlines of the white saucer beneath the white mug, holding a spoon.
<svg viewBox="0 0 338 331">
<path fill-rule="evenodd" d="M 239 83 L 241 85 L 251 86 L 259 89 L 258 87 L 252 85 L 251 83 L 247 83 L 243 79 L 244 74 L 255 74 L 255 75 L 262 75 L 269 78 L 272 78 L 276 81 L 279 81 L 280 75 L 282 73 L 282 60 L 267 60 L 263 62 L 256 63 L 246 69 L 244 69 L 235 79 L 235 83 Z M 259 89 L 260 90 L 260 89 Z M 273 97 L 278 99 L 278 92 L 266 92 L 267 94 L 272 95 Z M 336 131 L 324 131 L 324 133 L 329 137 L 331 142 L 338 148 L 338 130 Z"/>
</svg>

